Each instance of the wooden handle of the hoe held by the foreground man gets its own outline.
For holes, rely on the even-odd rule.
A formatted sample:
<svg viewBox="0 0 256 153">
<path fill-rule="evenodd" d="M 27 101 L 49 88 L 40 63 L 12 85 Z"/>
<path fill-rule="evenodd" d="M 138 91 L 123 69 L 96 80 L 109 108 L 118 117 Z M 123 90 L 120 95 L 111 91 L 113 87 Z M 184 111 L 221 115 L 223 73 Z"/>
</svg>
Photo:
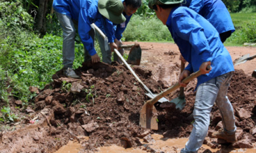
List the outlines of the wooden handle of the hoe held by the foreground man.
<svg viewBox="0 0 256 153">
<path fill-rule="evenodd" d="M 207 69 L 210 69 L 210 65 L 207 66 Z M 189 75 L 187 78 L 185 78 L 184 80 L 182 80 L 182 83 L 189 83 L 191 80 L 199 77 L 200 75 L 202 75 L 202 72 L 200 70 L 198 70 L 197 72 Z M 175 91 L 176 89 L 178 89 L 180 87 L 179 83 L 176 83 L 175 85 L 173 85 L 172 87 L 169 87 L 168 89 L 164 90 L 163 92 L 159 93 L 157 96 L 155 96 L 153 99 L 148 100 L 146 103 L 148 103 L 148 105 L 154 105 L 157 103 L 157 101 L 159 99 L 161 99 L 162 97 L 166 96 L 167 94 Z"/>
</svg>

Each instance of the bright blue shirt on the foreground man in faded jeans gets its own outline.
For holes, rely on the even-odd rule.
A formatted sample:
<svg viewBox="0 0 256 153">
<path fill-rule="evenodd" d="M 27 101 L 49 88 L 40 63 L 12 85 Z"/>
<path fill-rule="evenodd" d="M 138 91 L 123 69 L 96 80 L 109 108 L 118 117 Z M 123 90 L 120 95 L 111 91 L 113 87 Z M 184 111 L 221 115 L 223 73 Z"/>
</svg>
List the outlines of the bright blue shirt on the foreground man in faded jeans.
<svg viewBox="0 0 256 153">
<path fill-rule="evenodd" d="M 196 72 L 203 62 L 211 62 L 211 71 L 197 78 L 197 87 L 219 75 L 234 71 L 231 56 L 221 42 L 219 33 L 195 11 L 187 7 L 173 8 L 166 26 L 181 55 L 189 63 L 186 70 Z"/>
</svg>

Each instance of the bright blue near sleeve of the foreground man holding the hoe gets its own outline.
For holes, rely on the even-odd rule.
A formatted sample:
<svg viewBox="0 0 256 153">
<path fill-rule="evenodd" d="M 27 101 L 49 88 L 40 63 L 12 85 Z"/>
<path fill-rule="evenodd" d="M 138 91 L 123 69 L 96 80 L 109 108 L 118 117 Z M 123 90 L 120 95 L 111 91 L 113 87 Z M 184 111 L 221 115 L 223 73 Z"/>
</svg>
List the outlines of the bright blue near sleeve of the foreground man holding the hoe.
<svg viewBox="0 0 256 153">
<path fill-rule="evenodd" d="M 189 41 L 196 53 L 203 62 L 211 61 L 211 52 L 208 41 L 204 34 L 204 29 L 191 16 L 185 13 L 175 14 L 173 17 L 174 28 L 177 35 Z"/>
</svg>

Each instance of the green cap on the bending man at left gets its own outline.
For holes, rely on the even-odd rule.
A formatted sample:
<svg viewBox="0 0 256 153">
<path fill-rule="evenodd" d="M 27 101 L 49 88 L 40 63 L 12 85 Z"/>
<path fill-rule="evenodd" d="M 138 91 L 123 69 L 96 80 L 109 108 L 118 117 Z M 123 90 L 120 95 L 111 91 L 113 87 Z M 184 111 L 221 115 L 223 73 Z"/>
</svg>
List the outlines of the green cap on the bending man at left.
<svg viewBox="0 0 256 153">
<path fill-rule="evenodd" d="M 123 3 L 120 0 L 99 0 L 99 13 L 110 21 L 120 24 L 126 20 L 123 16 Z"/>
</svg>

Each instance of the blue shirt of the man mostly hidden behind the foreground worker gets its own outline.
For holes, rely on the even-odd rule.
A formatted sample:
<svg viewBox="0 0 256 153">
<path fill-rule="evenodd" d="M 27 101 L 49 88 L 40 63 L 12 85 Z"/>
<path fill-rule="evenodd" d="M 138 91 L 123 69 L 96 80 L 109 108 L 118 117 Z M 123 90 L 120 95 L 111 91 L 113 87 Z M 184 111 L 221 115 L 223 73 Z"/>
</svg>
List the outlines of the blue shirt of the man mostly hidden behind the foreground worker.
<svg viewBox="0 0 256 153">
<path fill-rule="evenodd" d="M 217 29 L 219 34 L 235 31 L 230 14 L 221 0 L 184 0 L 186 6 L 206 18 Z"/>
</svg>

